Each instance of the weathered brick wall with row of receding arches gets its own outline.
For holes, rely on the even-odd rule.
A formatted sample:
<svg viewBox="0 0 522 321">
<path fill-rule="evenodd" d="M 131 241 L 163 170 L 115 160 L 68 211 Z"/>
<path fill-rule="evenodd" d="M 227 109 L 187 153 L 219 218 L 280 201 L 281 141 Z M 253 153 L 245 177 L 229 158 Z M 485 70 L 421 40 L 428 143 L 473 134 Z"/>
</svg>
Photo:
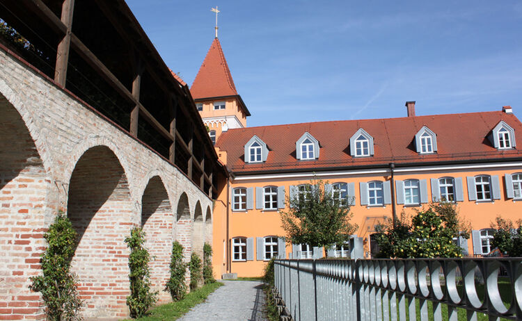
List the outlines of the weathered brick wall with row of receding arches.
<svg viewBox="0 0 522 321">
<path fill-rule="evenodd" d="M 188 260 L 195 204 L 212 208 L 212 200 L 164 158 L 1 50 L 0 66 L 0 320 L 45 318 L 28 279 L 40 273 L 42 236 L 58 208 L 81 234 L 73 271 L 84 316 L 128 315 L 129 230 L 142 222 L 148 231 L 159 288 L 172 236 Z"/>
</svg>

